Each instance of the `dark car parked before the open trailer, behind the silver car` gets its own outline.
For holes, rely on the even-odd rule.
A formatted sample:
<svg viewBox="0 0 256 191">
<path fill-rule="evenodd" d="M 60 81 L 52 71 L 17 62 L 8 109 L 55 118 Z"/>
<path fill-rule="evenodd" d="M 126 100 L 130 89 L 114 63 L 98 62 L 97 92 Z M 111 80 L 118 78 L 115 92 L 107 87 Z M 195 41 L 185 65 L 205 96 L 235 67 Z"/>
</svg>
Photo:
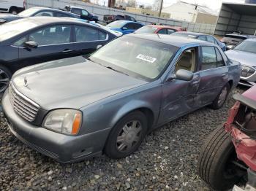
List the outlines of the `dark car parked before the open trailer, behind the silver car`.
<svg viewBox="0 0 256 191">
<path fill-rule="evenodd" d="M 226 34 L 220 41 L 224 42 L 227 46 L 227 50 L 232 49 L 236 46 L 239 42 L 244 41 L 245 39 L 252 39 L 255 38 L 254 35 L 246 35 L 246 34 Z"/>
</svg>

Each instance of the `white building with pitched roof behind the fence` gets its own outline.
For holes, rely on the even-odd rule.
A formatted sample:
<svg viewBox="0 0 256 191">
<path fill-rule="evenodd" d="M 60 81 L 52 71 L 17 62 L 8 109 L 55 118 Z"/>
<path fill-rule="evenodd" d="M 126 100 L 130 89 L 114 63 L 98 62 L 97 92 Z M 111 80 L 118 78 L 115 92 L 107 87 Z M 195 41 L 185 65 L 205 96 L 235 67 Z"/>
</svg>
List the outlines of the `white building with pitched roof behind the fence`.
<svg viewBox="0 0 256 191">
<path fill-rule="evenodd" d="M 170 18 L 184 20 L 192 23 L 215 24 L 217 22 L 217 12 L 197 4 L 178 1 L 169 7 L 162 9 L 162 12 L 170 13 Z"/>
</svg>

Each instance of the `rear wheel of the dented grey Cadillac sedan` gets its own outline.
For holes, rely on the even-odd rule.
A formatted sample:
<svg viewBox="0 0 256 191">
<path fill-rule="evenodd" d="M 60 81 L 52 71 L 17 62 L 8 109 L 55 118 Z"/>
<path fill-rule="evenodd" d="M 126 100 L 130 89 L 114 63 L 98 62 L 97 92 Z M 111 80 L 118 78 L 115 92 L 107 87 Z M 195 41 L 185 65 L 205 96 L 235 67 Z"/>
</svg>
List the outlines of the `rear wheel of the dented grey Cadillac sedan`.
<svg viewBox="0 0 256 191">
<path fill-rule="evenodd" d="M 223 97 L 223 93 L 225 93 L 225 97 Z M 217 98 L 214 99 L 213 103 L 210 105 L 211 109 L 220 109 L 225 104 L 225 101 L 227 100 L 227 96 L 230 93 L 230 85 L 227 83 L 224 87 L 222 87 L 222 90 L 218 94 Z M 222 100 L 223 99 L 223 100 Z"/>
</svg>

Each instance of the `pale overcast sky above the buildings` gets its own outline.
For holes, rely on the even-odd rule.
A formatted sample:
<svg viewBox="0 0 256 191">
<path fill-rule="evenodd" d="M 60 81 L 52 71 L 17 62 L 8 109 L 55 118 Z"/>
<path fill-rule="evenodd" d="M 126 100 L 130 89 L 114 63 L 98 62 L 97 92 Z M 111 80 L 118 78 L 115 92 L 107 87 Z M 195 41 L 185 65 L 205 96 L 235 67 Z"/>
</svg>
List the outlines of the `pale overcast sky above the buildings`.
<svg viewBox="0 0 256 191">
<path fill-rule="evenodd" d="M 93 0 L 92 0 L 93 1 Z M 108 5 L 108 0 L 100 0 L 101 3 L 105 1 L 105 5 Z M 206 5 L 207 7 L 214 9 L 216 11 L 219 11 L 219 8 L 222 4 L 222 1 L 224 2 L 232 2 L 232 3 L 243 3 L 244 0 L 181 0 L 186 1 L 188 3 L 192 4 L 200 4 L 200 5 Z M 177 0 L 164 0 L 164 7 L 170 6 L 173 3 L 176 3 Z M 154 3 L 154 0 L 136 0 L 137 4 L 144 4 L 144 5 L 151 5 Z"/>
</svg>

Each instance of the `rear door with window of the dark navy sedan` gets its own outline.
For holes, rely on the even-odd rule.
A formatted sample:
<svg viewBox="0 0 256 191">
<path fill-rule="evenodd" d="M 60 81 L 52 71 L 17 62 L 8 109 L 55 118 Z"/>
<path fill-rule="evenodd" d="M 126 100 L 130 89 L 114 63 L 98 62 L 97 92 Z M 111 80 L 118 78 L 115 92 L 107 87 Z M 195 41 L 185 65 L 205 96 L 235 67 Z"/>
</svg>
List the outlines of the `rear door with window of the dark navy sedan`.
<svg viewBox="0 0 256 191">
<path fill-rule="evenodd" d="M 90 26 L 74 26 L 75 55 L 90 55 L 97 50 L 97 46 L 108 42 L 105 31 Z"/>
</svg>

